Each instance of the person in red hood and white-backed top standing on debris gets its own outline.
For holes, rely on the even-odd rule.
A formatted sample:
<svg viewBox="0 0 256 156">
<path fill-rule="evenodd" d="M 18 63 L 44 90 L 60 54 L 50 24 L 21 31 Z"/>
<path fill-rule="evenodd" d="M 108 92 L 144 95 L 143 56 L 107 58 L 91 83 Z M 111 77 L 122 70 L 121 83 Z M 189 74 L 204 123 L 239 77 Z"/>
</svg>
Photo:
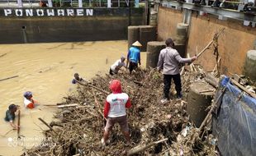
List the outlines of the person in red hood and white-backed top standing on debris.
<svg viewBox="0 0 256 156">
<path fill-rule="evenodd" d="M 111 80 L 109 88 L 112 93 L 107 96 L 104 106 L 104 117 L 107 118 L 107 124 L 101 140 L 102 145 L 106 145 L 109 132 L 116 122 L 121 126 L 121 131 L 126 137 L 127 144 L 130 144 L 130 132 L 126 118 L 126 108 L 131 107 L 130 98 L 128 94 L 122 93 L 120 80 Z"/>
</svg>

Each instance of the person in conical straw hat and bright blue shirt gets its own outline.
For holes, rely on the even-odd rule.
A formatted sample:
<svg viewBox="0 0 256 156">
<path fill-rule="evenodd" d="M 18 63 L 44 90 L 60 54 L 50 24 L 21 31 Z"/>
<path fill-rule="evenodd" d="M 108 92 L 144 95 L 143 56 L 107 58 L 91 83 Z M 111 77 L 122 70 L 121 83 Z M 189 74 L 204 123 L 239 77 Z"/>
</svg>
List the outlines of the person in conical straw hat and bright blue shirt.
<svg viewBox="0 0 256 156">
<path fill-rule="evenodd" d="M 129 62 L 129 71 L 131 74 L 131 71 L 133 71 L 135 68 L 138 67 L 138 62 L 140 64 L 140 47 L 142 45 L 139 41 L 136 41 L 132 44 L 132 47 L 130 47 L 127 55 L 127 65 Z M 126 65 L 126 66 L 127 66 Z"/>
</svg>

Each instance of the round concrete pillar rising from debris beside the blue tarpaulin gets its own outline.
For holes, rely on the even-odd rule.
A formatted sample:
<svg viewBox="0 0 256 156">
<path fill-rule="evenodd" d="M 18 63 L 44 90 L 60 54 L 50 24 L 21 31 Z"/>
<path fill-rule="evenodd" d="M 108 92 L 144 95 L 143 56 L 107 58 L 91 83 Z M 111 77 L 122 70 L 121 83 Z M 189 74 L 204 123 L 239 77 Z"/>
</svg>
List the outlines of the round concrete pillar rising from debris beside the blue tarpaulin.
<svg viewBox="0 0 256 156">
<path fill-rule="evenodd" d="M 196 82 L 190 85 L 187 94 L 187 113 L 197 127 L 201 126 L 201 122 L 207 115 L 206 108 L 211 105 L 214 91 L 215 88 L 206 82 Z"/>
</svg>

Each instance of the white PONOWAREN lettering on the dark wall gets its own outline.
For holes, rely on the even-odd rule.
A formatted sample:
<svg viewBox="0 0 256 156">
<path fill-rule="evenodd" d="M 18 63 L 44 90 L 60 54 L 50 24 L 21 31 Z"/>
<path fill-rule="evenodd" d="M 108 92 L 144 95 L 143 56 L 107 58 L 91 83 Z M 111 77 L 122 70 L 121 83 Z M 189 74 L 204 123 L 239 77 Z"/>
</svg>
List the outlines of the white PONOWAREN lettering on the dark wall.
<svg viewBox="0 0 256 156">
<path fill-rule="evenodd" d="M 93 16 L 92 8 L 4 8 L 1 16 Z"/>
</svg>

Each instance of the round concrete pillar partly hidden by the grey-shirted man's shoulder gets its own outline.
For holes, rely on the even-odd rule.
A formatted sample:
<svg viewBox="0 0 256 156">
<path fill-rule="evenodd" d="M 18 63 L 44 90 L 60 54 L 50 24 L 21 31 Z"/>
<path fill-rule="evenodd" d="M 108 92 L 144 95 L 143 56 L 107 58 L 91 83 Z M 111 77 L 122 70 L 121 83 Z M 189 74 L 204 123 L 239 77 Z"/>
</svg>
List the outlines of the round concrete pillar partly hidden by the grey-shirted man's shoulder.
<svg viewBox="0 0 256 156">
<path fill-rule="evenodd" d="M 165 42 L 150 41 L 147 44 L 146 67 L 156 67 L 159 61 L 159 53 L 165 48 Z"/>
</svg>

